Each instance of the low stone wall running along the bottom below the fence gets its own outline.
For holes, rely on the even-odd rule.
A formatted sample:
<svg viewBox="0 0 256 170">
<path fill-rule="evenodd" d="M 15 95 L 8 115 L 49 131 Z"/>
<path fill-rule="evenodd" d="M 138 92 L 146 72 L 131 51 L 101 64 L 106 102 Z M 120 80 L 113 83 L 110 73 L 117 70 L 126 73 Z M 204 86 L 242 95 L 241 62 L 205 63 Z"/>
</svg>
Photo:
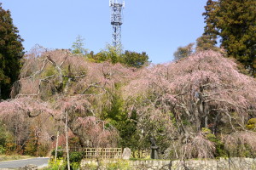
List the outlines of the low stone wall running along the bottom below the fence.
<svg viewBox="0 0 256 170">
<path fill-rule="evenodd" d="M 83 160 L 82 169 L 124 170 L 256 170 L 256 159 L 230 158 L 189 161 L 88 161 Z"/>
</svg>

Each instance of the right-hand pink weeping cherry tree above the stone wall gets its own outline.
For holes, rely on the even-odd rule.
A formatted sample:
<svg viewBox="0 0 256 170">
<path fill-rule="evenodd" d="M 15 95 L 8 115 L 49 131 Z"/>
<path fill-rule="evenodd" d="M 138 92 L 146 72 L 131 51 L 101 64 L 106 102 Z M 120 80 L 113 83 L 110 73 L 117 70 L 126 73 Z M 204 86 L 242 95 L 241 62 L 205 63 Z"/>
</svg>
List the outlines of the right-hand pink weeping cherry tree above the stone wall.
<svg viewBox="0 0 256 170">
<path fill-rule="evenodd" d="M 247 120 L 256 116 L 255 79 L 239 73 L 234 61 L 217 52 L 155 65 L 139 75 L 125 87 L 125 100 L 137 111 L 138 127 L 163 144 L 163 150 L 175 150 L 176 156 L 171 155 L 177 159 L 220 156 L 215 135 L 242 138 L 236 134 L 247 133 Z M 254 150 L 256 133 L 250 135 L 247 144 Z"/>
</svg>

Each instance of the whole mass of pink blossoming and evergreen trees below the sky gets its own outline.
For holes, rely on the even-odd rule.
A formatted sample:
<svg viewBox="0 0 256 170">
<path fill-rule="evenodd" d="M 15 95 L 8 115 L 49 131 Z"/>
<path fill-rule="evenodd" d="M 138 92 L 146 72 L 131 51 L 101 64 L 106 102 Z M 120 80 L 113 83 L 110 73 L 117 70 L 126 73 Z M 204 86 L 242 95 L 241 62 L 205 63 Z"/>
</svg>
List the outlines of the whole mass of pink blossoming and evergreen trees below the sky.
<svg viewBox="0 0 256 170">
<path fill-rule="evenodd" d="M 154 138 L 164 159 L 255 158 L 256 2 L 205 8 L 203 35 L 154 65 L 145 52 L 88 52 L 81 37 L 73 50 L 24 54 L 0 3 L 0 153 L 47 156 L 58 131 L 64 148 L 67 123 L 70 148 L 129 147 L 140 157 Z"/>
</svg>

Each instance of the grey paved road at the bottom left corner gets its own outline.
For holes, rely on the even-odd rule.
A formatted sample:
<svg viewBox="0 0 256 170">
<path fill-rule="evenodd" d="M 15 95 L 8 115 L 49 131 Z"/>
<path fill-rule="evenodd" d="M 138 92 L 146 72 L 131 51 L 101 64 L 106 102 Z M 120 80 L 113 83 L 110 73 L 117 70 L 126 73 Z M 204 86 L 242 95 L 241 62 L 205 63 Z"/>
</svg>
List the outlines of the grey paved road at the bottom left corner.
<svg viewBox="0 0 256 170">
<path fill-rule="evenodd" d="M 49 157 L 38 157 L 26 160 L 0 161 L 0 168 L 25 167 L 29 164 L 36 165 L 38 167 L 44 167 L 48 165 L 48 160 Z"/>
</svg>

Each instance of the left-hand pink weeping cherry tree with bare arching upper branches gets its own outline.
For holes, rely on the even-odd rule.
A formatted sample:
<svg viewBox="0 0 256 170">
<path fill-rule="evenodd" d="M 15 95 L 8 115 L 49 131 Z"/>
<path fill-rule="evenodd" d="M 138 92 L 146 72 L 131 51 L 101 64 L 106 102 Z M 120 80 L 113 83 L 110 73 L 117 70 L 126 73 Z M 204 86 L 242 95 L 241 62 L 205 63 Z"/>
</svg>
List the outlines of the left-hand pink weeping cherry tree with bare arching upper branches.
<svg viewBox="0 0 256 170">
<path fill-rule="evenodd" d="M 131 69 L 120 64 L 89 62 L 82 54 L 68 50 L 33 48 L 26 55 L 20 80 L 15 82 L 15 99 L 0 103 L 2 120 L 48 115 L 63 122 L 67 112 L 68 127 L 79 137 L 81 145 L 114 145 L 118 133 L 100 117 L 102 110 L 112 104 L 115 83 L 131 75 Z"/>
</svg>

